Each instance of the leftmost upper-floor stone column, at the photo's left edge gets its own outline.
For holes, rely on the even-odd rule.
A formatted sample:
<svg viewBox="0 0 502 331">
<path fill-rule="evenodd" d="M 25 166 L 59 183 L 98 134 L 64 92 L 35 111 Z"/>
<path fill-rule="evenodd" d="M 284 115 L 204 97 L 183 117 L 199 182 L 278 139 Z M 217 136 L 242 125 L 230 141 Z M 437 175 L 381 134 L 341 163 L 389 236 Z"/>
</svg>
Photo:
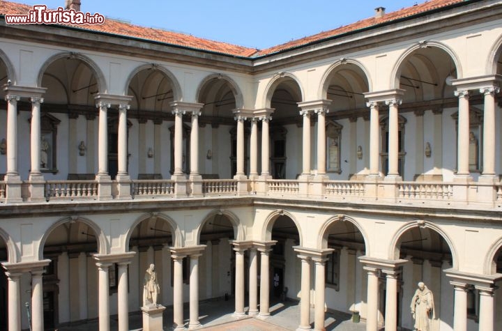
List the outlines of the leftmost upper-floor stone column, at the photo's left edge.
<svg viewBox="0 0 502 331">
<path fill-rule="evenodd" d="M 7 100 L 7 174 L 17 175 L 17 95 L 6 95 Z"/>
</svg>

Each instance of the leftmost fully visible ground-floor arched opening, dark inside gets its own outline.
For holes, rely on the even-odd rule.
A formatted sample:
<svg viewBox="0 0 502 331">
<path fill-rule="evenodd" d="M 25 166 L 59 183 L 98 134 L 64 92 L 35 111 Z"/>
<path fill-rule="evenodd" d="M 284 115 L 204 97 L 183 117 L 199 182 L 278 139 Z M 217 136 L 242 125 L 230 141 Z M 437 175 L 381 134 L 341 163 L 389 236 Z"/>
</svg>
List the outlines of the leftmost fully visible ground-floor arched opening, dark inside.
<svg viewBox="0 0 502 331">
<path fill-rule="evenodd" d="M 43 275 L 45 330 L 61 323 L 98 317 L 98 274 L 93 254 L 98 234 L 81 220 L 56 226 L 43 243 L 43 257 L 51 262 Z"/>
</svg>

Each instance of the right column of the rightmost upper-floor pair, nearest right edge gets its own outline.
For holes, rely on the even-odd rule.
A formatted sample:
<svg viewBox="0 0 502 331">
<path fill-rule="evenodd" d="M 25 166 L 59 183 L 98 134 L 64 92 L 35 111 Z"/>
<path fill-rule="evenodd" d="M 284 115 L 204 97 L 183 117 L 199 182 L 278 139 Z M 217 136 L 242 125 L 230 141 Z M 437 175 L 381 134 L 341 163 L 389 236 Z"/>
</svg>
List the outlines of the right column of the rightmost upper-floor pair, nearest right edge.
<svg viewBox="0 0 502 331">
<path fill-rule="evenodd" d="M 482 176 L 495 176 L 495 94 L 499 91 L 500 88 L 494 86 L 480 88 L 480 93 L 485 95 Z"/>
</svg>

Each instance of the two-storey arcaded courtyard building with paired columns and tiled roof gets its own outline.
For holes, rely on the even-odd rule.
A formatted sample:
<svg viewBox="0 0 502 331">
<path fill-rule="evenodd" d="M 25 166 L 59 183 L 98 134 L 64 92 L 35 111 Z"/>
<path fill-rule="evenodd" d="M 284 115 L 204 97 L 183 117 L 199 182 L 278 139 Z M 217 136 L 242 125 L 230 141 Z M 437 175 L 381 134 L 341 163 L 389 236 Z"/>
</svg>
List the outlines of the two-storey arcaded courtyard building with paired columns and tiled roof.
<svg viewBox="0 0 502 331">
<path fill-rule="evenodd" d="M 0 1 L 1 331 L 129 330 L 151 263 L 176 330 L 218 298 L 413 330 L 418 282 L 430 330 L 502 330 L 502 1 L 261 50 L 29 10 Z"/>
</svg>

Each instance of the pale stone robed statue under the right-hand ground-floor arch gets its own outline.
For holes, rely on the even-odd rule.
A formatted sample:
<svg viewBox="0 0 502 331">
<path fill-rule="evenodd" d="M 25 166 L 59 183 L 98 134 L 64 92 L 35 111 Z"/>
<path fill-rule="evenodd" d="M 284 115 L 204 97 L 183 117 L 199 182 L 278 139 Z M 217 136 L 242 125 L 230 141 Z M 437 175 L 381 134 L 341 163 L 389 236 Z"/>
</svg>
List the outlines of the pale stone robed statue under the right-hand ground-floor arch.
<svg viewBox="0 0 502 331">
<path fill-rule="evenodd" d="M 418 283 L 418 288 L 411 299 L 411 314 L 415 318 L 415 330 L 431 330 L 431 321 L 436 318 L 434 296 L 423 282 Z"/>
</svg>

